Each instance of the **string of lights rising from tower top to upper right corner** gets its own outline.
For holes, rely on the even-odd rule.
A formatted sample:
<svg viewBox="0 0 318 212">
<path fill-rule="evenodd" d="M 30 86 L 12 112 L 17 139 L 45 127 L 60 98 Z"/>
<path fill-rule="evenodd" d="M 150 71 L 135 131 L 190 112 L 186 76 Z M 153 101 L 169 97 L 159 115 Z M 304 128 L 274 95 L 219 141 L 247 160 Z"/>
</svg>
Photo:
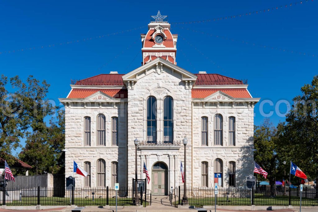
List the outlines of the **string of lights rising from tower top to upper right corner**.
<svg viewBox="0 0 318 212">
<path fill-rule="evenodd" d="M 264 10 L 249 11 L 249 12 L 241 13 L 238 15 L 223 16 L 223 17 L 206 19 L 206 20 L 198 20 L 198 21 L 174 22 L 171 24 L 175 24 L 175 25 L 177 25 L 177 24 L 197 24 L 197 23 L 205 23 L 205 22 L 212 22 L 212 21 L 228 20 L 228 19 L 232 19 L 232 18 L 239 18 L 239 17 L 246 17 L 246 16 L 250 16 L 250 15 L 255 15 L 255 14 L 262 14 L 262 13 L 266 13 L 266 12 L 270 12 L 270 11 L 274 11 L 274 10 L 279 10 L 279 9 L 286 9 L 286 8 L 292 7 L 293 5 L 302 5 L 304 2 L 307 3 L 307 2 L 313 2 L 313 1 L 314 0 L 297 1 L 295 3 L 289 3 L 289 4 L 280 5 L 280 6 L 276 6 L 276 7 L 269 7 L 269 8 L 266 8 Z"/>
</svg>

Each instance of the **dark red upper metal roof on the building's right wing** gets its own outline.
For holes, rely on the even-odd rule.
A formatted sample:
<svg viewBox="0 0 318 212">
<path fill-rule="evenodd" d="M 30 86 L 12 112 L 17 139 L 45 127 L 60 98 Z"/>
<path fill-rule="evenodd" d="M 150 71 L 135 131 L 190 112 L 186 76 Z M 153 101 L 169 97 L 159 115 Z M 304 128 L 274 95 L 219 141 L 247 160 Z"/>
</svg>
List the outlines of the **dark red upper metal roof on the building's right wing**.
<svg viewBox="0 0 318 212">
<path fill-rule="evenodd" d="M 221 74 L 195 74 L 195 85 L 243 85 L 242 80 L 225 77 Z"/>
</svg>

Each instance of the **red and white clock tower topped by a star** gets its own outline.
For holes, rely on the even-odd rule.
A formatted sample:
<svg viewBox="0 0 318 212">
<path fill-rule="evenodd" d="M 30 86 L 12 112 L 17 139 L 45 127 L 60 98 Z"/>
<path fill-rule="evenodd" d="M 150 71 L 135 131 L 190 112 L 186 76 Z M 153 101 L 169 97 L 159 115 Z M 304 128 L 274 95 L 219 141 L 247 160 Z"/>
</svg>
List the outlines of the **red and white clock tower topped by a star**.
<svg viewBox="0 0 318 212">
<path fill-rule="evenodd" d="M 141 35 L 142 65 L 159 57 L 176 65 L 178 35 L 171 34 L 170 24 L 165 21 L 167 16 L 162 16 L 160 11 L 151 17 L 154 21 L 148 24 L 147 34 Z"/>
</svg>

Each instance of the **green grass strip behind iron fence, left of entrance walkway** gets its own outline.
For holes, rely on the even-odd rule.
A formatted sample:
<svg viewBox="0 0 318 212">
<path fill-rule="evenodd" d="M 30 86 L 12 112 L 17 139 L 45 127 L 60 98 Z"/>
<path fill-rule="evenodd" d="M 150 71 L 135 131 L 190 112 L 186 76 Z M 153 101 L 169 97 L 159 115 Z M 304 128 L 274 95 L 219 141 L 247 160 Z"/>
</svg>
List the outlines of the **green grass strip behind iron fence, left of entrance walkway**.
<svg viewBox="0 0 318 212">
<path fill-rule="evenodd" d="M 145 207 L 145 202 L 143 202 L 143 205 Z M 74 198 L 74 205 L 77 206 L 87 206 L 87 205 L 106 205 L 107 199 L 106 198 L 95 198 L 94 201 L 92 199 L 86 199 L 86 198 Z M 15 201 L 7 201 L 7 205 L 37 205 L 38 204 L 38 198 L 37 197 L 22 197 L 21 201 L 15 200 Z M 64 198 L 64 197 L 40 197 L 40 205 L 70 205 L 70 198 Z M 115 198 L 109 198 L 108 199 L 109 205 L 115 205 L 116 200 Z M 132 205 L 132 199 L 131 198 L 118 198 L 117 199 L 117 205 Z M 149 205 L 149 202 L 147 201 L 147 205 Z"/>
</svg>

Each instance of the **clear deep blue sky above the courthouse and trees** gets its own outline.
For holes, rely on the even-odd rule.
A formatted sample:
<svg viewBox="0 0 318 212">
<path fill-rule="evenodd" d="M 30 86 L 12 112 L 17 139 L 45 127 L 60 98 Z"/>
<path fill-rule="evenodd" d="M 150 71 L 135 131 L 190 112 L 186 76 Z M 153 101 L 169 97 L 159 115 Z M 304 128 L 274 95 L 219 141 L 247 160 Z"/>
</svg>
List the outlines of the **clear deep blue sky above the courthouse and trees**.
<svg viewBox="0 0 318 212">
<path fill-rule="evenodd" d="M 277 124 L 285 119 L 275 112 L 279 101 L 283 103 L 277 109 L 284 114 L 284 101 L 291 102 L 301 86 L 318 73 L 318 1 L 295 3 L 1 1 L 0 52 L 10 53 L 0 54 L 0 73 L 46 79 L 51 84 L 48 98 L 59 105 L 58 98 L 66 97 L 71 79 L 110 71 L 127 73 L 139 67 L 140 34 L 147 32 L 150 16 L 158 10 L 168 15 L 170 23 L 210 19 L 171 24 L 172 33 L 179 34 L 177 65 L 193 73 L 248 79 L 253 97 L 273 102 L 274 106 L 264 104 L 263 111 L 274 111 L 269 118 Z M 213 21 L 229 16 L 232 18 Z M 109 35 L 113 33 L 117 34 Z M 102 35 L 106 36 L 99 38 Z M 82 41 L 84 38 L 92 39 Z M 63 44 L 74 40 L 80 42 Z M 46 45 L 51 47 L 41 48 Z M 24 51 L 12 52 L 20 49 Z M 264 120 L 259 105 L 255 106 L 256 125 Z"/>
</svg>

